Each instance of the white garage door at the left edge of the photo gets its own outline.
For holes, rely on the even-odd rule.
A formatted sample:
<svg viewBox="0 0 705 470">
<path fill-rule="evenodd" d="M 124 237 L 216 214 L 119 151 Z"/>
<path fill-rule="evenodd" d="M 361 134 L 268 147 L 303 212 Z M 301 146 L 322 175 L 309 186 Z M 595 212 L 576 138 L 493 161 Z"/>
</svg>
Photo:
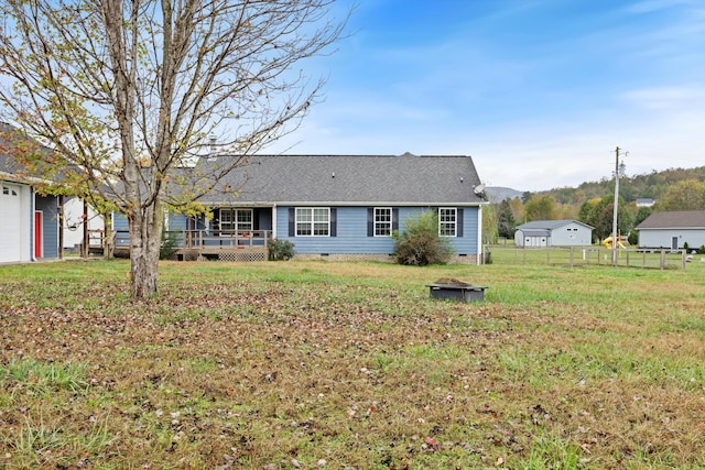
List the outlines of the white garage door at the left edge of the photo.
<svg viewBox="0 0 705 470">
<path fill-rule="evenodd" d="M 0 263 L 22 261 L 22 187 L 0 183 Z"/>
</svg>

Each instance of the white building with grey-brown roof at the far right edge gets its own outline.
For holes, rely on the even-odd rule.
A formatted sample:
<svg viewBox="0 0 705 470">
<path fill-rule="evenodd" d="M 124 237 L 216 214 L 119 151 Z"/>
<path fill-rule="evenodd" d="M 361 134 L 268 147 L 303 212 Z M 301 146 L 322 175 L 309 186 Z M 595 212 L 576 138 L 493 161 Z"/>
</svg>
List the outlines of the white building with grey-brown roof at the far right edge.
<svg viewBox="0 0 705 470">
<path fill-rule="evenodd" d="M 637 230 L 639 248 L 699 248 L 705 244 L 705 210 L 653 212 Z"/>
</svg>

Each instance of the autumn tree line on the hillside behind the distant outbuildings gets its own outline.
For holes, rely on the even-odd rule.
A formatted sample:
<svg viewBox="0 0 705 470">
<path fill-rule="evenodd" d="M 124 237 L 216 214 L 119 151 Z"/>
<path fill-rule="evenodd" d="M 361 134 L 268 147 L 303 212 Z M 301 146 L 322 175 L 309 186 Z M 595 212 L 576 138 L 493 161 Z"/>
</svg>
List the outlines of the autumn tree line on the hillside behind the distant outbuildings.
<svg viewBox="0 0 705 470">
<path fill-rule="evenodd" d="M 522 197 L 494 201 L 482 212 L 484 241 L 513 239 L 516 228 L 533 220 L 573 219 L 594 227 L 593 242 L 612 231 L 615 181 L 583 183 L 577 187 L 527 192 Z M 651 207 L 638 207 L 637 198 L 652 198 Z M 637 243 L 639 226 L 654 211 L 705 210 L 705 166 L 670 168 L 619 181 L 617 226 Z"/>
</svg>

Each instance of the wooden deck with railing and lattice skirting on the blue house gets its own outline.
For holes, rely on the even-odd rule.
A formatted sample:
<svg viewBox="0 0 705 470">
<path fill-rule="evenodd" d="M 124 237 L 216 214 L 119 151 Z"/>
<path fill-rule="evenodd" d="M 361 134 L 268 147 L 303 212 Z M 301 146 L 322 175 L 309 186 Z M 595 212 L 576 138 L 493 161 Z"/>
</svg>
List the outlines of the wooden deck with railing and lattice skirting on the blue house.
<svg viewBox="0 0 705 470">
<path fill-rule="evenodd" d="M 166 244 L 174 251 L 172 260 L 267 261 L 271 230 L 178 230 L 164 234 Z M 116 256 L 130 255 L 130 232 L 115 232 Z"/>
</svg>

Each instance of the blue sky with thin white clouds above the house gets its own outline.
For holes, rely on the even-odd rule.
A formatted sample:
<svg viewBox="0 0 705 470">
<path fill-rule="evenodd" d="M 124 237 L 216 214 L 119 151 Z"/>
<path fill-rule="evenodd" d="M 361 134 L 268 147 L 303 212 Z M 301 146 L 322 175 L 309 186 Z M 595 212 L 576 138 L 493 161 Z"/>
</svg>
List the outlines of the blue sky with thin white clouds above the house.
<svg viewBox="0 0 705 470">
<path fill-rule="evenodd" d="M 359 0 L 348 29 L 273 150 L 471 155 L 520 190 L 609 178 L 617 146 L 628 175 L 705 165 L 703 0 Z"/>
</svg>

